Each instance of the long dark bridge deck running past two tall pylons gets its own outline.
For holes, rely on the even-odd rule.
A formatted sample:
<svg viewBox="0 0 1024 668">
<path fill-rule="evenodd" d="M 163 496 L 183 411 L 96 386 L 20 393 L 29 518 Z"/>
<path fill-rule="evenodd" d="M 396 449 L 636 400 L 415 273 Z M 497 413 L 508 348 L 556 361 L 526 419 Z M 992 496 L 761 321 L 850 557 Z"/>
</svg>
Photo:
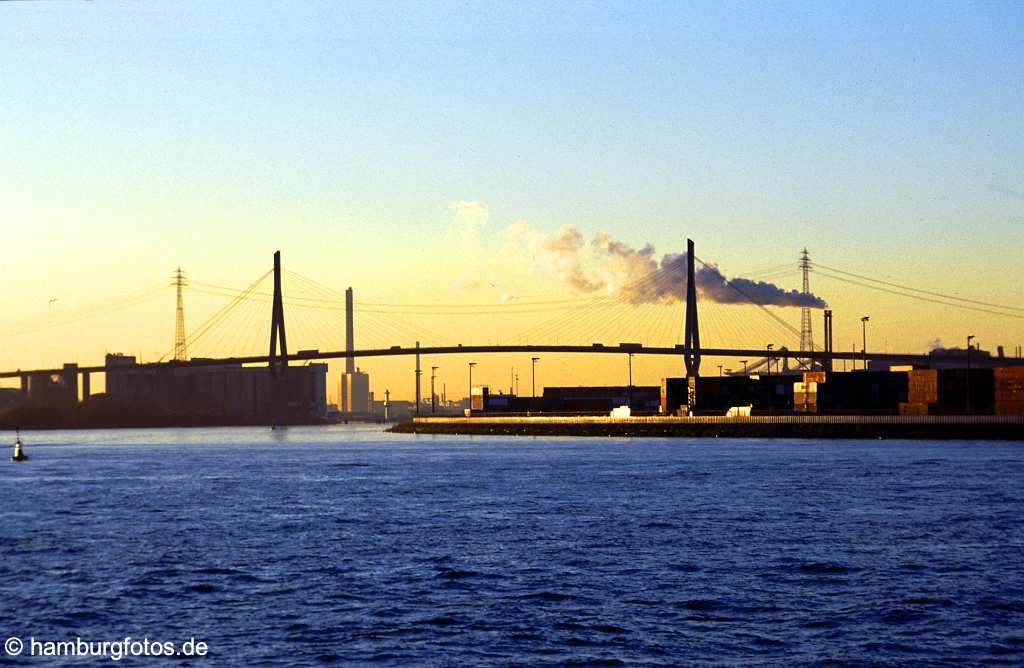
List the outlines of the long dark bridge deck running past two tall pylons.
<svg viewBox="0 0 1024 668">
<path fill-rule="evenodd" d="M 389 348 L 370 348 L 366 350 L 352 350 L 351 352 L 346 350 L 334 350 L 322 352 L 321 350 L 300 350 L 293 354 L 289 354 L 287 360 L 289 362 L 312 362 L 317 360 L 338 360 L 341 358 L 387 358 L 387 357 L 397 357 L 397 356 L 410 356 L 410 354 L 484 354 L 490 352 L 570 352 L 570 353 L 597 353 L 597 354 L 627 354 L 632 352 L 633 354 L 669 354 L 669 356 L 682 356 L 686 352 L 686 347 L 683 345 L 675 345 L 671 347 L 646 347 L 640 343 L 620 343 L 618 345 L 604 345 L 601 343 L 593 343 L 591 345 L 434 345 L 427 347 L 403 347 L 394 345 Z M 766 348 L 700 348 L 700 354 L 706 358 L 746 358 L 751 361 L 758 360 L 760 358 L 767 357 L 768 350 Z M 814 351 L 800 351 L 800 350 L 788 350 L 788 349 L 773 349 L 771 351 L 771 357 L 773 359 L 788 359 L 788 360 L 873 360 L 873 361 L 889 361 L 894 363 L 921 363 L 928 364 L 930 362 L 936 361 L 936 358 L 929 354 L 915 354 L 915 353 L 901 353 L 901 352 L 824 352 L 820 350 Z M 942 362 L 961 362 L 967 363 L 968 356 L 965 351 L 964 354 L 943 354 L 938 358 Z M 977 358 L 976 358 L 977 359 Z M 986 361 L 991 361 L 991 358 L 983 358 Z M 130 368 L 144 368 L 144 369 L 176 369 L 179 367 L 216 367 L 220 365 L 237 365 L 237 364 L 269 364 L 270 358 L 265 354 L 256 354 L 241 358 L 218 358 L 218 359 L 197 359 L 187 360 L 184 362 L 152 362 L 147 364 L 140 364 L 136 367 Z M 979 360 L 980 361 L 980 360 Z M 1000 361 L 1001 365 L 1006 366 L 1024 366 L 1024 359 L 1022 358 L 1004 358 Z M 31 370 L 17 370 L 17 371 L 3 371 L 0 372 L 0 378 L 18 378 L 22 376 L 30 376 L 33 374 L 59 374 L 63 373 L 66 370 L 62 368 L 58 369 L 31 369 Z M 108 371 L 105 366 L 93 366 L 93 367 L 78 367 L 78 373 L 103 373 Z"/>
</svg>

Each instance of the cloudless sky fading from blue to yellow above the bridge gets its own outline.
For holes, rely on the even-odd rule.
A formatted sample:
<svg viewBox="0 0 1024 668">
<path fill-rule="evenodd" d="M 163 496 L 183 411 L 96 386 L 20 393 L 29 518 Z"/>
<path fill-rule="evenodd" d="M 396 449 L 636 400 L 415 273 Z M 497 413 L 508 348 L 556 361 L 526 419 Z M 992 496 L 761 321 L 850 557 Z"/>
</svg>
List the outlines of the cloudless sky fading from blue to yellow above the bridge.
<svg viewBox="0 0 1024 668">
<path fill-rule="evenodd" d="M 603 235 L 655 260 L 692 238 L 730 278 L 795 267 L 807 247 L 824 266 L 1024 308 L 1017 2 L 15 2 L 0 3 L 0 48 L 5 369 L 159 358 L 169 290 L 72 317 L 177 266 L 241 288 L 279 249 L 372 303 L 593 297 L 549 252 L 567 225 L 597 294 L 614 291 Z M 862 315 L 874 349 L 1024 342 L 1021 318 L 823 276 L 812 291 L 837 348 L 860 340 Z M 190 328 L 225 301 L 187 298 Z M 773 335 L 733 308 L 709 310 L 706 345 Z M 799 308 L 772 309 L 799 326 Z M 551 317 L 401 315 L 467 342 Z M 299 320 L 293 345 L 329 343 L 303 344 L 315 327 Z M 623 321 L 609 342 L 673 329 Z M 384 325 L 362 339 L 401 338 Z M 464 361 L 442 362 L 461 385 Z M 681 373 L 637 364 L 640 382 Z M 378 393 L 411 393 L 409 361 L 368 365 Z M 487 365 L 497 384 L 528 359 Z M 549 360 L 546 382 L 613 382 L 614 365 Z"/>
</svg>

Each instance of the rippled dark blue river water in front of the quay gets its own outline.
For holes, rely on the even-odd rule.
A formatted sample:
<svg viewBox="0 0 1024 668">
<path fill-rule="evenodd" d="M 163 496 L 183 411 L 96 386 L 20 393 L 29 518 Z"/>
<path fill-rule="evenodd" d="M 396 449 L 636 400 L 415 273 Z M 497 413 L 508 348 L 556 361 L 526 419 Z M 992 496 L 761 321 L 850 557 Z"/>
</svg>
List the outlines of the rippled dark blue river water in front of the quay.
<svg viewBox="0 0 1024 668">
<path fill-rule="evenodd" d="M 1022 444 L 25 441 L 30 462 L 0 464 L 0 636 L 27 645 L 197 638 L 246 666 L 1024 663 Z"/>
</svg>

